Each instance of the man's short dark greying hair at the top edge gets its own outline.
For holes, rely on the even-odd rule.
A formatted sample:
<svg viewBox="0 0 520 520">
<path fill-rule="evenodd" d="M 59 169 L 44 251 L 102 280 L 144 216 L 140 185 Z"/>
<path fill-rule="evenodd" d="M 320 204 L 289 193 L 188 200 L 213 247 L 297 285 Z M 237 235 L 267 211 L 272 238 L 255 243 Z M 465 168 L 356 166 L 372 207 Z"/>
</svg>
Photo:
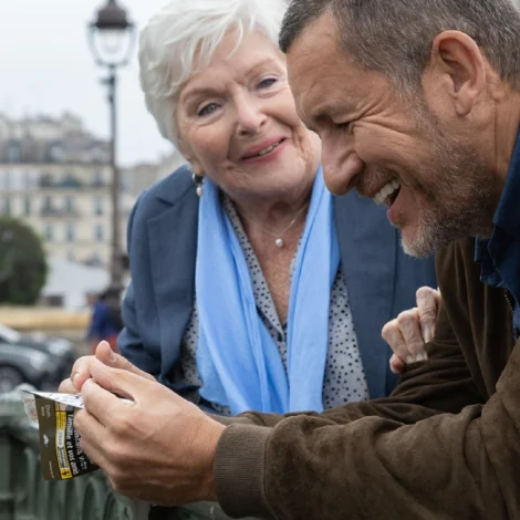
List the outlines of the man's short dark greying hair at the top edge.
<svg viewBox="0 0 520 520">
<path fill-rule="evenodd" d="M 518 89 L 520 15 L 511 0 L 292 0 L 280 32 L 281 50 L 288 52 L 326 12 L 349 56 L 406 92 L 419 87 L 431 44 L 447 30 L 471 37 L 500 76 Z"/>
</svg>

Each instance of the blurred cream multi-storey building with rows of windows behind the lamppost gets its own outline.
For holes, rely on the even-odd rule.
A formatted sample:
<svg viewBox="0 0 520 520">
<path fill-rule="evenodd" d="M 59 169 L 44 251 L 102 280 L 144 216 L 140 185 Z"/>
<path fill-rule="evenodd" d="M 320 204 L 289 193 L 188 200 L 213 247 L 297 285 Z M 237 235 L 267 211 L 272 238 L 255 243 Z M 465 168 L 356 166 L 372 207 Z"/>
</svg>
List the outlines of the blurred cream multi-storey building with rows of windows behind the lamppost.
<svg viewBox="0 0 520 520">
<path fill-rule="evenodd" d="M 22 218 L 49 254 L 107 267 L 111 258 L 110 145 L 82 122 L 0 116 L 0 215 Z M 135 196 L 121 191 L 122 248 Z"/>
</svg>

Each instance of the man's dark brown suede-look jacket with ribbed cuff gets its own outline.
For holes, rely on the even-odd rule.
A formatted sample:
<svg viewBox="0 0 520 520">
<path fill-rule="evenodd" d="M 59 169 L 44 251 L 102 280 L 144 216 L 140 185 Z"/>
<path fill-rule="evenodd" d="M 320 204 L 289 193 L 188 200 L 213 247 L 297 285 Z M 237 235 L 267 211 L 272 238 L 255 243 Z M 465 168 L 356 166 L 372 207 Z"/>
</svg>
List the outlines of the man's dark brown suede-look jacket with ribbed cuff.
<svg viewBox="0 0 520 520">
<path fill-rule="evenodd" d="M 228 426 L 216 487 L 233 517 L 520 519 L 520 345 L 474 241 L 437 259 L 429 360 L 388 398 L 323 414 L 248 413 Z"/>
</svg>

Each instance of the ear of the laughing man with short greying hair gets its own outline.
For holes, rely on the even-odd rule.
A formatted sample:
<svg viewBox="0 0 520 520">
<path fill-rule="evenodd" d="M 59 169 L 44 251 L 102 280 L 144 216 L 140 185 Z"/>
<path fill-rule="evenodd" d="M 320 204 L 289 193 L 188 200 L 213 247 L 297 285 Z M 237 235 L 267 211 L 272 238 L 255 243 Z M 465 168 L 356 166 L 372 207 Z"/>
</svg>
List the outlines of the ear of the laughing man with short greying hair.
<svg viewBox="0 0 520 520">
<path fill-rule="evenodd" d="M 431 45 L 425 75 L 435 91 L 449 98 L 459 116 L 469 114 L 486 89 L 486 63 L 482 53 L 468 34 L 444 31 Z"/>
</svg>

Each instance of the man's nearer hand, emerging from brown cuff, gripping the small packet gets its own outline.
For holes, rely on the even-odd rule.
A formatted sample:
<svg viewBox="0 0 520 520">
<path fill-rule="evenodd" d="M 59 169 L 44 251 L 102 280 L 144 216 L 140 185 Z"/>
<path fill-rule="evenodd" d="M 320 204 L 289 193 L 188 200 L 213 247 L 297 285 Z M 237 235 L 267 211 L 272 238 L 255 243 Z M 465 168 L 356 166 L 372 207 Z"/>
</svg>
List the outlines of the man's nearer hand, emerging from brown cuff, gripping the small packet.
<svg viewBox="0 0 520 520">
<path fill-rule="evenodd" d="M 163 506 L 215 500 L 212 464 L 225 426 L 155 381 L 98 360 L 90 374 L 74 426 L 114 490 Z"/>
</svg>

